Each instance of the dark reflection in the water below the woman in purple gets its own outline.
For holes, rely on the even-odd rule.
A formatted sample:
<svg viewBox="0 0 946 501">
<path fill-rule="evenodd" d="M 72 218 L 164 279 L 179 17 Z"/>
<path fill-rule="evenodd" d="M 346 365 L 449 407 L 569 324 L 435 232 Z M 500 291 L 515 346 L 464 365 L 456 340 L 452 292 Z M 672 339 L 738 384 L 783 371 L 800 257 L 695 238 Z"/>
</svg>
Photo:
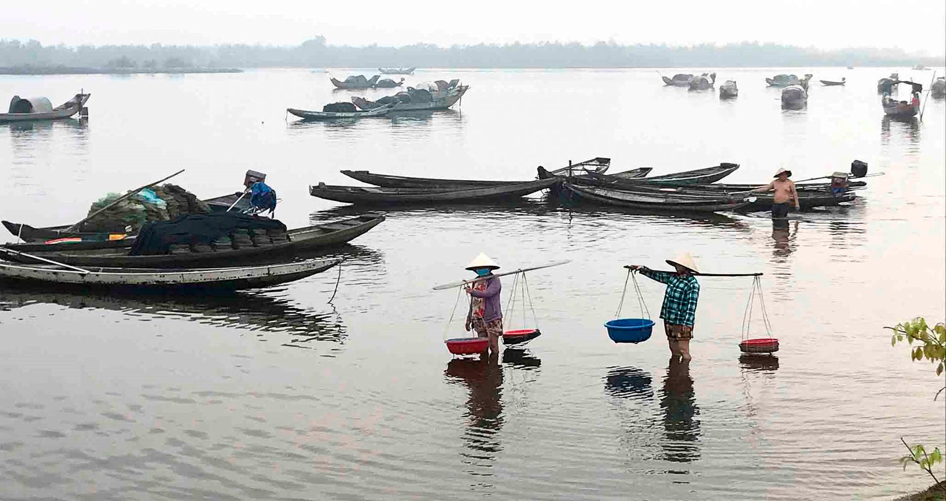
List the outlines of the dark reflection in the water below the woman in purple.
<svg viewBox="0 0 946 501">
<path fill-rule="evenodd" d="M 495 437 L 502 428 L 502 366 L 499 354 L 482 359 L 453 359 L 445 372 L 448 383 L 469 388 L 466 400 L 466 446 L 475 453 L 467 457 L 493 459 L 501 450 Z M 485 454 L 483 454 L 485 453 Z"/>
</svg>

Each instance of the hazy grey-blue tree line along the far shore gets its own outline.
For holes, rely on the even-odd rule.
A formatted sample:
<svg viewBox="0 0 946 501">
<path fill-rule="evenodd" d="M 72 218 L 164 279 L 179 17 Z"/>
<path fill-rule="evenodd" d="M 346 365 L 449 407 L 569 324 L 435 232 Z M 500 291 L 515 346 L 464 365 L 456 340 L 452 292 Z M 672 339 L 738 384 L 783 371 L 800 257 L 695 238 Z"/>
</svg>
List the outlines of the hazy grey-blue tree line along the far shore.
<svg viewBox="0 0 946 501">
<path fill-rule="evenodd" d="M 184 67 L 698 67 L 942 65 L 896 48 L 818 50 L 795 45 L 618 45 L 599 42 L 509 45 L 327 45 L 322 36 L 296 46 L 42 45 L 0 39 L 0 66 Z"/>
</svg>

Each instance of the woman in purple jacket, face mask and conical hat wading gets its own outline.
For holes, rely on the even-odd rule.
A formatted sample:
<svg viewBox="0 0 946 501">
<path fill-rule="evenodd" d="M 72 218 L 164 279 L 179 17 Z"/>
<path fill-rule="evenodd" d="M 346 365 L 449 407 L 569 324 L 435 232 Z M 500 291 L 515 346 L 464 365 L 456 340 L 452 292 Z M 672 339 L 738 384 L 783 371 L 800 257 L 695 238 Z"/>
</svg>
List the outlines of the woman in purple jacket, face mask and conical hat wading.
<svg viewBox="0 0 946 501">
<path fill-rule="evenodd" d="M 493 270 L 499 265 L 480 253 L 476 259 L 466 266 L 477 274 L 477 277 L 487 277 L 465 287 L 466 294 L 470 295 L 470 310 L 466 313 L 466 331 L 472 329 L 477 336 L 489 338 L 489 349 L 493 354 L 499 353 L 499 337 L 502 335 L 502 308 L 499 305 L 499 291 L 502 285 L 499 277 L 493 277 Z"/>
</svg>

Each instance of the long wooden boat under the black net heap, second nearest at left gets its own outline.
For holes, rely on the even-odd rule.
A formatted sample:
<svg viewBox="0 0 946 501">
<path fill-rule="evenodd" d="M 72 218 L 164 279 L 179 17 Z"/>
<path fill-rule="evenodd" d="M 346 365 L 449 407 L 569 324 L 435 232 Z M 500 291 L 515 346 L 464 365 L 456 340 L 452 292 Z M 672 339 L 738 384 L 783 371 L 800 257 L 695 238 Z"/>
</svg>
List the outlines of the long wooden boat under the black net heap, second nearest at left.
<svg viewBox="0 0 946 501">
<path fill-rule="evenodd" d="M 265 242 L 255 246 L 246 245 L 238 249 L 228 246 L 216 250 L 211 246 L 204 245 L 202 246 L 202 252 L 193 252 L 182 245 L 182 248 L 172 251 L 171 254 L 151 256 L 129 256 L 127 248 L 104 247 L 90 249 L 86 247 L 85 249 L 79 249 L 72 247 L 69 243 L 53 243 L 45 246 L 44 244 L 13 243 L 7 244 L 5 247 L 75 266 L 178 268 L 234 262 L 239 259 L 269 259 L 275 256 L 292 256 L 300 251 L 350 242 L 381 224 L 384 219 L 385 217 L 382 214 L 367 213 L 332 223 L 290 229 L 287 232 L 288 240 L 278 243 Z M 127 246 L 131 246 L 131 242 L 133 242 L 133 239 L 129 240 Z M 26 263 L 36 262 L 35 259 L 19 256 L 8 256 L 6 259 Z"/>
</svg>

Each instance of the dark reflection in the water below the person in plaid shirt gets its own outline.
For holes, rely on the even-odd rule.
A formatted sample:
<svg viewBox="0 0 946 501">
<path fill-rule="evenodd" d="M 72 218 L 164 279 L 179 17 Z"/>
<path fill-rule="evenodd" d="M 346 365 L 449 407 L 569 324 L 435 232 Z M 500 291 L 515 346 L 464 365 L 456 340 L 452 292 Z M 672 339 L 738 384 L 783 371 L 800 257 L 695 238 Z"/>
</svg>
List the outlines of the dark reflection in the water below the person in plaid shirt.
<svg viewBox="0 0 946 501">
<path fill-rule="evenodd" d="M 660 391 L 660 409 L 663 410 L 664 459 L 691 462 L 700 457 L 697 443 L 700 437 L 699 407 L 693 393 L 690 361 L 670 359 L 667 377 Z"/>
</svg>

